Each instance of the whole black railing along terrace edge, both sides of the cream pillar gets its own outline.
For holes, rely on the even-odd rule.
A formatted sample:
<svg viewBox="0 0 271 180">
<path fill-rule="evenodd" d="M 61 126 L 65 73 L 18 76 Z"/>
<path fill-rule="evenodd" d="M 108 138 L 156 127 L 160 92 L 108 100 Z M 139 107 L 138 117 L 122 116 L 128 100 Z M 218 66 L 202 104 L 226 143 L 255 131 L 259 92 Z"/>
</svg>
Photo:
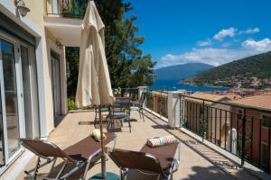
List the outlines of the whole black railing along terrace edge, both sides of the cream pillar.
<svg viewBox="0 0 271 180">
<path fill-rule="evenodd" d="M 119 95 L 138 100 L 139 90 L 123 88 Z M 231 154 L 225 156 L 238 159 L 241 166 L 256 166 L 271 174 L 271 111 L 163 91 L 146 91 L 145 107 L 163 118 L 169 113 L 171 118 L 180 118 L 180 126 L 174 126 L 208 142 L 211 148 L 225 150 Z"/>
</svg>

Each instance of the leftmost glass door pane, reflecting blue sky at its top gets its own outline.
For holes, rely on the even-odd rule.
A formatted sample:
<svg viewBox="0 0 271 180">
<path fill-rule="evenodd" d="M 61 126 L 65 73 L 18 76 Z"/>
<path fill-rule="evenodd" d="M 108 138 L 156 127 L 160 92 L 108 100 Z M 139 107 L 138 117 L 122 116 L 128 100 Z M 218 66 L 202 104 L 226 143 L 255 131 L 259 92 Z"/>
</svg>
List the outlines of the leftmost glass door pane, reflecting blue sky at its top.
<svg viewBox="0 0 271 180">
<path fill-rule="evenodd" d="M 11 157 L 19 146 L 19 116 L 18 99 L 16 92 L 15 61 L 13 44 L 1 40 L 4 87 L 5 111 L 7 126 L 8 156 Z"/>
</svg>

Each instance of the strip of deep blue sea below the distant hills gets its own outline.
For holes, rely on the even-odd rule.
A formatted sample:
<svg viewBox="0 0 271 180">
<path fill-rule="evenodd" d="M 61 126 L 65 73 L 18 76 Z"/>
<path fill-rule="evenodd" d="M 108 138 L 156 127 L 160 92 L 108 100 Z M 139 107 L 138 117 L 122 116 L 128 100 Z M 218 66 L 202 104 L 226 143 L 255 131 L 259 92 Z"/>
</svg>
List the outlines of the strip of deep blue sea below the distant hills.
<svg viewBox="0 0 271 180">
<path fill-rule="evenodd" d="M 207 91 L 226 91 L 229 90 L 227 87 L 212 87 L 212 86 L 196 86 L 179 84 L 177 80 L 161 80 L 156 81 L 153 86 L 149 87 L 150 90 L 161 90 L 161 91 L 177 91 L 186 90 L 191 92 L 207 92 Z"/>
</svg>

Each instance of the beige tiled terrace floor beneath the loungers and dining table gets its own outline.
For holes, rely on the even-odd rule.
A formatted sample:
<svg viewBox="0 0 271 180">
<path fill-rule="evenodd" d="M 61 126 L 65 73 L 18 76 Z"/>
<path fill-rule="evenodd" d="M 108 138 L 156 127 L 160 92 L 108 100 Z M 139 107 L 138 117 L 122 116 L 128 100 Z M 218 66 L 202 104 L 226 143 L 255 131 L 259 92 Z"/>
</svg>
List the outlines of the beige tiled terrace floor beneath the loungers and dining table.
<svg viewBox="0 0 271 180">
<path fill-rule="evenodd" d="M 138 91 L 136 89 L 136 91 Z M 135 92 L 135 91 L 134 91 Z M 129 93 L 131 91 L 129 90 Z M 146 104 L 148 107 L 154 107 L 155 112 L 150 111 L 150 109 L 145 108 L 145 121 L 140 119 L 138 112 L 131 112 L 131 124 L 132 132 L 129 132 L 128 124 L 124 122 L 124 126 L 120 127 L 120 124 L 116 124 L 114 129 L 108 129 L 107 131 L 114 131 L 117 134 L 117 144 L 116 148 L 130 149 L 130 150 L 139 150 L 144 146 L 145 141 L 149 137 L 165 136 L 173 134 L 176 138 L 182 141 L 181 145 L 181 162 L 179 169 L 173 173 L 173 179 L 261 179 L 257 175 L 253 175 L 252 171 L 248 171 L 244 166 L 238 165 L 232 159 L 225 157 L 221 154 L 216 148 L 210 148 L 204 145 L 202 139 L 197 139 L 194 131 L 194 136 L 192 131 L 196 129 L 190 129 L 190 131 L 184 129 L 171 129 L 168 127 L 168 121 L 166 117 L 170 114 L 165 114 L 165 104 L 167 108 L 170 106 L 168 101 L 170 95 L 164 96 L 165 94 L 148 94 Z M 155 97 L 154 97 L 155 96 Z M 150 100 L 152 97 L 152 101 Z M 161 99 L 161 97 L 163 99 Z M 136 98 L 136 95 L 135 95 Z M 155 103 L 157 101 L 158 103 Z M 163 103 L 162 103 L 163 102 Z M 155 107 L 155 105 L 157 105 Z M 163 112 L 164 116 L 161 116 Z M 171 113 L 171 112 L 169 112 Z M 94 130 L 94 117 L 95 112 L 86 111 L 86 112 L 70 112 L 64 117 L 62 117 L 58 127 L 51 132 L 49 140 L 56 143 L 61 148 L 67 148 L 71 144 L 89 136 L 89 133 Z M 89 123 L 90 121 L 90 123 Z M 188 122 L 191 124 L 191 121 Z M 189 127 L 189 126 L 187 126 Z M 192 127 L 192 126 L 191 126 Z M 194 126 L 196 127 L 196 126 Z M 187 128 L 188 129 L 188 128 Z M 31 160 L 28 163 L 23 163 L 19 161 L 15 162 L 14 165 L 8 169 L 5 175 L 10 175 L 13 173 L 13 169 L 18 164 L 22 163 L 23 170 L 30 169 L 35 166 L 36 157 L 30 155 L 30 152 L 23 154 L 23 157 L 31 157 Z M 48 170 L 44 167 L 43 170 Z M 55 169 L 57 170 L 57 168 Z M 39 171 L 41 172 L 41 171 Z M 100 163 L 93 165 L 88 172 L 87 177 L 91 177 L 100 172 Z M 113 163 L 111 159 L 107 160 L 107 172 L 114 172 L 118 174 L 119 170 L 117 166 Z M 71 176 L 70 179 L 77 179 L 79 174 Z M 135 175 L 132 175 L 134 179 L 153 179 L 154 176 L 145 176 L 139 172 Z M 23 171 L 20 172 L 18 179 L 25 179 L 25 174 Z M 133 179 L 131 177 L 131 179 Z M 5 178 L 5 176 L 4 176 Z M 155 178 L 154 178 L 155 179 Z"/>
</svg>

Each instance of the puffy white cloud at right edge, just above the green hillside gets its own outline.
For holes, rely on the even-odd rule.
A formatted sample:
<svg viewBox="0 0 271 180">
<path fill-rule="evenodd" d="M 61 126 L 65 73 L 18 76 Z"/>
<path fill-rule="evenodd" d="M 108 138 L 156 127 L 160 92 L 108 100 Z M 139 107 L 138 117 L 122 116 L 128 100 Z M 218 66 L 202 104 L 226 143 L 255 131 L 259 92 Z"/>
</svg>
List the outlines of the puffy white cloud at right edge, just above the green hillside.
<svg viewBox="0 0 271 180">
<path fill-rule="evenodd" d="M 271 50 L 271 40 L 268 38 L 264 40 L 245 40 L 242 42 L 242 46 L 245 49 L 251 49 L 254 51 L 268 51 Z"/>
</svg>

